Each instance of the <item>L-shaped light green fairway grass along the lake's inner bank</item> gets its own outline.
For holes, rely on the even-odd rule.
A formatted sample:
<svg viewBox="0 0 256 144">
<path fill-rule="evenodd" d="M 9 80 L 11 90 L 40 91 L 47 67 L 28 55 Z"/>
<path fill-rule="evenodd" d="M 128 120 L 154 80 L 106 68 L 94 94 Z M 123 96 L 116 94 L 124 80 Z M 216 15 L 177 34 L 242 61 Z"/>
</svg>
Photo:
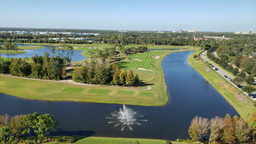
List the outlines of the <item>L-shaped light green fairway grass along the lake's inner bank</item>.
<svg viewBox="0 0 256 144">
<path fill-rule="evenodd" d="M 20 98 L 47 100 L 47 101 L 83 101 L 97 102 L 109 104 L 130 104 L 142 106 L 161 106 L 168 102 L 167 88 L 165 84 L 161 61 L 166 55 L 172 52 L 188 51 L 186 50 L 158 50 L 144 52 L 140 54 L 128 55 L 130 58 L 137 58 L 143 61 L 135 61 L 124 59 L 117 64 L 122 63 L 122 69 L 151 69 L 151 71 L 138 70 L 134 75 L 138 74 L 140 80 L 151 86 L 151 89 L 145 89 L 145 86 L 139 89 L 127 89 L 134 92 L 133 95 L 119 94 L 120 86 L 84 86 L 69 83 L 60 83 L 56 81 L 40 81 L 33 79 L 25 79 L 18 77 L 9 77 L 0 75 L 0 92 L 14 95 Z M 150 56 L 160 56 L 153 59 Z M 150 72 L 150 73 L 147 73 Z M 77 92 L 64 92 L 67 87 L 83 88 L 84 90 L 77 95 Z M 144 88 L 144 89 L 143 89 Z M 94 90 L 92 90 L 94 89 Z M 92 93 L 93 92 L 93 93 Z M 140 96 L 140 92 L 151 92 L 150 96 Z M 151 95 L 153 95 L 151 94 Z"/>
</svg>

